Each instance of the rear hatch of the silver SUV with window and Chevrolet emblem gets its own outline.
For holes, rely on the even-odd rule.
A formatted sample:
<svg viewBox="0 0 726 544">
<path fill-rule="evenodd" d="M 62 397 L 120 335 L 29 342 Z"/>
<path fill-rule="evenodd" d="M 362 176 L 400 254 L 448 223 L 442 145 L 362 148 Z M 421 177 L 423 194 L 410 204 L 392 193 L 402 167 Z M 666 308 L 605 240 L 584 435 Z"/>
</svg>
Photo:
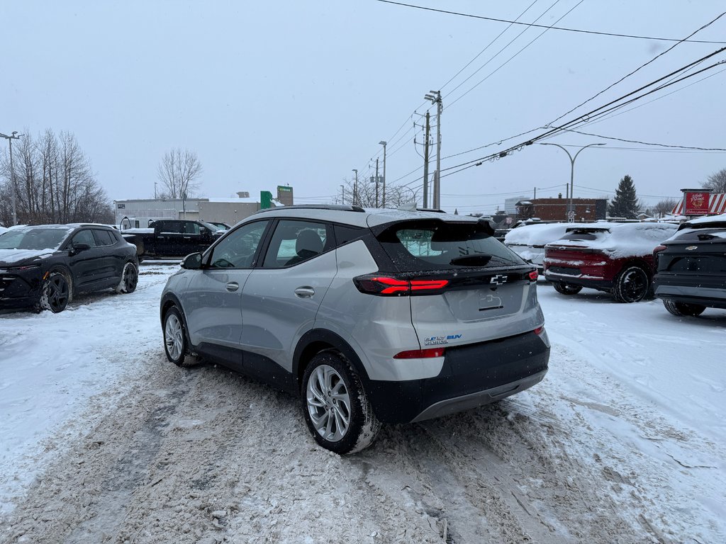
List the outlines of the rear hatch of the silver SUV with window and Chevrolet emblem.
<svg viewBox="0 0 726 544">
<path fill-rule="evenodd" d="M 532 265 L 484 222 L 414 220 L 375 228 L 397 279 L 409 281 L 422 349 L 510 337 L 542 325 Z"/>
</svg>

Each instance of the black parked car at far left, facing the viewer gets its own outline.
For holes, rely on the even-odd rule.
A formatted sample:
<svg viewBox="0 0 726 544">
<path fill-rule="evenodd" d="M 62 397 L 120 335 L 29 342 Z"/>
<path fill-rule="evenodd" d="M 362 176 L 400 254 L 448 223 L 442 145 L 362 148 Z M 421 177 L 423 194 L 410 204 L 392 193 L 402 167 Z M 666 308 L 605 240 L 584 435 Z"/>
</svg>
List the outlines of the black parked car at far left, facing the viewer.
<svg viewBox="0 0 726 544">
<path fill-rule="evenodd" d="M 62 312 L 78 292 L 130 293 L 136 247 L 102 225 L 36 225 L 0 235 L 0 308 Z"/>
</svg>

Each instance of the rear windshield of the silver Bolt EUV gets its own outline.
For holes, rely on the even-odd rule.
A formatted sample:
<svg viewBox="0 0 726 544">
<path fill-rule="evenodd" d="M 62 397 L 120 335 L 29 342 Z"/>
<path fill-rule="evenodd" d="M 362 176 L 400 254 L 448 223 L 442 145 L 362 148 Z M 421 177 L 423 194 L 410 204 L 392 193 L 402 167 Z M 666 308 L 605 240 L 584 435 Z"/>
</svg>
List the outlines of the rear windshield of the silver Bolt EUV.
<svg viewBox="0 0 726 544">
<path fill-rule="evenodd" d="M 396 223 L 378 240 L 401 272 L 524 264 L 482 223 Z"/>
</svg>

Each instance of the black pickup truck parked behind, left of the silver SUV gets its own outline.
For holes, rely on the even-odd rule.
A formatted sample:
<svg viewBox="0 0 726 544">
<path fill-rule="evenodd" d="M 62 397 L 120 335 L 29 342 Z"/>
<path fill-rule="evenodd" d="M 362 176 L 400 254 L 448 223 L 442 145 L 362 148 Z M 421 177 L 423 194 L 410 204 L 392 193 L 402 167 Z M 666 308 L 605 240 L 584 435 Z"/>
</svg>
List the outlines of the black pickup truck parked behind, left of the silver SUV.
<svg viewBox="0 0 726 544">
<path fill-rule="evenodd" d="M 149 257 L 185 257 L 203 252 L 224 231 L 204 221 L 155 221 L 150 228 L 127 228 L 121 231 L 126 242 L 136 246 L 139 260 Z"/>
</svg>

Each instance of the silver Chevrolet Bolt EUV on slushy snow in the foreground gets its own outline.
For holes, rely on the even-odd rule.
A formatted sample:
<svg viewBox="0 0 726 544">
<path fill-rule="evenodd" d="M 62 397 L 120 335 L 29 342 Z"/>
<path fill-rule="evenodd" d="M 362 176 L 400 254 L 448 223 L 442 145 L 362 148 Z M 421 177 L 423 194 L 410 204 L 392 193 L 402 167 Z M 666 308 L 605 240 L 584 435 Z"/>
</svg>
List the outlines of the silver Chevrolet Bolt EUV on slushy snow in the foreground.
<svg viewBox="0 0 726 544">
<path fill-rule="evenodd" d="M 301 399 L 336 453 L 537 384 L 550 342 L 537 271 L 486 221 L 263 210 L 184 258 L 161 297 L 166 355 L 199 355 Z"/>
</svg>

